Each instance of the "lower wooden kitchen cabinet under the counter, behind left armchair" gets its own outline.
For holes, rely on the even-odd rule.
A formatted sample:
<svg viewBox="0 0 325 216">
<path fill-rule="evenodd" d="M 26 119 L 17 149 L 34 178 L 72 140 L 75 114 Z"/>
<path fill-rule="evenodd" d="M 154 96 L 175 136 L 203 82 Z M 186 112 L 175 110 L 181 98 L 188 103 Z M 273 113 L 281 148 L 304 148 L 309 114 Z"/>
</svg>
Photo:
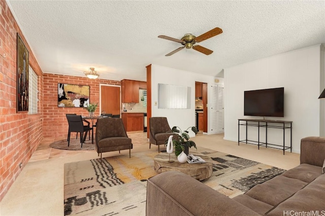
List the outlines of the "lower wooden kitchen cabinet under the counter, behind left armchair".
<svg viewBox="0 0 325 216">
<path fill-rule="evenodd" d="M 143 131 L 143 113 L 122 113 L 122 121 L 126 132 Z"/>
</svg>

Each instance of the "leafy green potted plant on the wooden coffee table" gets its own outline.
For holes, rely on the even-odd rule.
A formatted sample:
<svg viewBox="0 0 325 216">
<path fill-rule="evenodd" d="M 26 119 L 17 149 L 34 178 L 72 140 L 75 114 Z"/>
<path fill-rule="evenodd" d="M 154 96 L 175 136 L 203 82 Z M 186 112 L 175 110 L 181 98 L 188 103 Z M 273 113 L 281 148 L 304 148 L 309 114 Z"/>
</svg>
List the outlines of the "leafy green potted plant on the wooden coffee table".
<svg viewBox="0 0 325 216">
<path fill-rule="evenodd" d="M 174 134 L 177 134 L 177 138 L 173 139 L 173 145 L 175 147 L 175 155 L 178 156 L 182 151 L 187 155 L 188 154 L 188 148 L 191 148 L 192 146 L 197 149 L 196 144 L 194 141 L 189 140 L 188 135 L 188 129 L 191 128 L 192 132 L 194 134 L 198 134 L 198 129 L 194 126 L 188 127 L 185 131 L 182 131 L 179 126 L 173 126 L 172 131 Z M 168 140 L 165 141 L 165 144 L 167 144 Z"/>
</svg>

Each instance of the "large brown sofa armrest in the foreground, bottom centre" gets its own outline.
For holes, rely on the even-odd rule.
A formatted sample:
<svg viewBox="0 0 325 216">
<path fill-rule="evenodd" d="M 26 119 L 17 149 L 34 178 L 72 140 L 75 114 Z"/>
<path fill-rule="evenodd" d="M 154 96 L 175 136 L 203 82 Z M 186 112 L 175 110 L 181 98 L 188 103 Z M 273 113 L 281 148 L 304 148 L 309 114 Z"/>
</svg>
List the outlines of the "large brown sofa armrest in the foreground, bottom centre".
<svg viewBox="0 0 325 216">
<path fill-rule="evenodd" d="M 179 171 L 147 182 L 146 215 L 259 215 Z"/>
</svg>

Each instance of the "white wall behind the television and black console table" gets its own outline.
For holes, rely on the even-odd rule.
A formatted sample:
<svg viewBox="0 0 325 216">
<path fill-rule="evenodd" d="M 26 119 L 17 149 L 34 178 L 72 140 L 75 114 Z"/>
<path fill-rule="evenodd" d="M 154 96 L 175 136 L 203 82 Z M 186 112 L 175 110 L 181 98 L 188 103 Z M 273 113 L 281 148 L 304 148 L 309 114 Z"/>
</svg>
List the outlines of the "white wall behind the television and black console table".
<svg viewBox="0 0 325 216">
<path fill-rule="evenodd" d="M 224 69 L 224 139 L 238 141 L 239 118 L 263 119 L 244 116 L 244 91 L 278 87 L 284 87 L 284 117 L 266 119 L 293 121 L 293 152 L 300 152 L 302 138 L 320 136 L 320 113 L 324 112 L 318 99 L 323 73 L 320 53 L 318 45 Z M 261 131 L 262 138 L 265 134 Z M 248 132 L 249 139 L 257 140 L 257 128 L 249 127 Z M 241 140 L 244 133 L 242 126 Z M 281 144 L 282 139 L 282 129 L 268 130 L 268 142 Z"/>
</svg>

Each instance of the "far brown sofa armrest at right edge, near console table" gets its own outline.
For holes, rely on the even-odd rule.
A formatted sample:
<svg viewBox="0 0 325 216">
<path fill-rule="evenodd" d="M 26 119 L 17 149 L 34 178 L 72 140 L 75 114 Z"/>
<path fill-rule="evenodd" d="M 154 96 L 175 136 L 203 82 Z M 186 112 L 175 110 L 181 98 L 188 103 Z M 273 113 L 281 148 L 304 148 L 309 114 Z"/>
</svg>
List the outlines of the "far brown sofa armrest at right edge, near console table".
<svg viewBox="0 0 325 216">
<path fill-rule="evenodd" d="M 308 163 L 322 166 L 325 159 L 325 137 L 306 137 L 301 139 L 300 164 Z"/>
</svg>

